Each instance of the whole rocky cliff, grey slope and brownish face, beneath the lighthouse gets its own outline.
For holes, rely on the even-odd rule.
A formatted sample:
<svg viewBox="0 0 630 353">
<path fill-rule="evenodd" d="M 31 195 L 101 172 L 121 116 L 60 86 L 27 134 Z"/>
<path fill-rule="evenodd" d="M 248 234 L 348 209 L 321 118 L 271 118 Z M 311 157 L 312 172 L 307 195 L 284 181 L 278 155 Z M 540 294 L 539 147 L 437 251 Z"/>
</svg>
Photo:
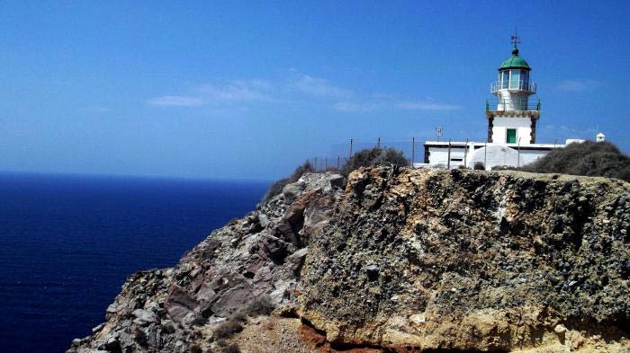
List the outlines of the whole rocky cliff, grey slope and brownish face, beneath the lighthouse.
<svg viewBox="0 0 630 353">
<path fill-rule="evenodd" d="M 630 184 L 396 168 L 342 183 L 307 174 L 175 268 L 132 275 L 68 352 L 215 351 L 263 296 L 275 313 L 228 339 L 242 351 L 630 349 Z"/>
</svg>

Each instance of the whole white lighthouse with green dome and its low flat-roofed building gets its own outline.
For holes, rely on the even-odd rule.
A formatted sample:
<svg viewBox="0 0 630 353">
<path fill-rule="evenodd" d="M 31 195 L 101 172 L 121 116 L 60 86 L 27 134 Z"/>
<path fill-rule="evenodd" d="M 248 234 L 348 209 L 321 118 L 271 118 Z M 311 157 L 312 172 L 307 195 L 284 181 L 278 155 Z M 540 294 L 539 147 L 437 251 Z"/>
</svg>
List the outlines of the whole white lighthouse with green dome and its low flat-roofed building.
<svg viewBox="0 0 630 353">
<path fill-rule="evenodd" d="M 540 100 L 536 84 L 531 81 L 531 67 L 518 56 L 514 40 L 512 56 L 499 66 L 499 77 L 491 83 L 491 93 L 497 98 L 486 101 L 488 137 L 484 142 L 427 141 L 425 163 L 456 168 L 473 168 L 483 163 L 486 170 L 494 166 L 522 166 L 532 163 L 554 148 L 566 145 L 536 144 L 540 119 Z"/>
</svg>

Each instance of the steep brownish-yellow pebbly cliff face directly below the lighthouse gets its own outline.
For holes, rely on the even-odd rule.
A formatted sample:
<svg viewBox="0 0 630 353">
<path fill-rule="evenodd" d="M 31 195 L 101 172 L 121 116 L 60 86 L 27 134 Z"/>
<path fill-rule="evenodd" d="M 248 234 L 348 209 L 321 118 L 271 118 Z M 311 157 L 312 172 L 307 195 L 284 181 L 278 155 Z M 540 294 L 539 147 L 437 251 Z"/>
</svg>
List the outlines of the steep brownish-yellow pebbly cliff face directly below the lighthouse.
<svg viewBox="0 0 630 353">
<path fill-rule="evenodd" d="M 301 314 L 331 341 L 392 348 L 622 340 L 629 216 L 620 181 L 355 172 L 311 243 Z"/>
</svg>

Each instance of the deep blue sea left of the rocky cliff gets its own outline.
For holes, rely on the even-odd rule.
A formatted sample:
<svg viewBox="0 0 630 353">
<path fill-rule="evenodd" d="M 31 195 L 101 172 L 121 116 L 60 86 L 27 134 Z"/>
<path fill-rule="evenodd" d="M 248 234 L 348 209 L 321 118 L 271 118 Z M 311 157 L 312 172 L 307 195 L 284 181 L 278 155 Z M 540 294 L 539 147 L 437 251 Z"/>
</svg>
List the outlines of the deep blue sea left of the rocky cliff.
<svg viewBox="0 0 630 353">
<path fill-rule="evenodd" d="M 0 173 L 0 351 L 63 352 L 128 275 L 175 265 L 267 186 Z"/>
</svg>

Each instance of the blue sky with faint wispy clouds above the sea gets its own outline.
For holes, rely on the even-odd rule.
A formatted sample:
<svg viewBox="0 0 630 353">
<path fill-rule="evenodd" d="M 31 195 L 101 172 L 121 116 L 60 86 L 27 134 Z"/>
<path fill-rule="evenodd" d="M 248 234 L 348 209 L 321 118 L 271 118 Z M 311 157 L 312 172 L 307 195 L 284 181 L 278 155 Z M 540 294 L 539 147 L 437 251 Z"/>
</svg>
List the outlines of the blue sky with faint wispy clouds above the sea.
<svg viewBox="0 0 630 353">
<path fill-rule="evenodd" d="M 630 150 L 628 1 L 5 1 L 0 171 L 274 179 L 350 137 L 483 139 L 518 26 L 538 137 Z"/>
</svg>

